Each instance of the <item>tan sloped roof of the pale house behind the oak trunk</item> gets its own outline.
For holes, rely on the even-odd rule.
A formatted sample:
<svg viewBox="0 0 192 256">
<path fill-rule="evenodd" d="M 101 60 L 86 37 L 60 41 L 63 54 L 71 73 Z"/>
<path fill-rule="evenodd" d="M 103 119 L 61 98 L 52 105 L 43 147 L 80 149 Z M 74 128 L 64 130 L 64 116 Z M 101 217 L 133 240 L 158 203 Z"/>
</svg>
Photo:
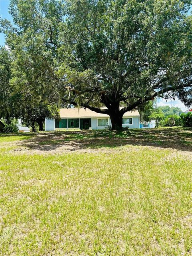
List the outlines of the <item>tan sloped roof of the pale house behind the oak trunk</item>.
<svg viewBox="0 0 192 256">
<path fill-rule="evenodd" d="M 138 110 L 128 111 L 124 115 L 128 116 L 139 116 Z M 91 118 L 91 117 L 109 117 L 107 114 L 96 113 L 88 108 L 60 108 L 60 117 L 61 118 Z"/>
</svg>

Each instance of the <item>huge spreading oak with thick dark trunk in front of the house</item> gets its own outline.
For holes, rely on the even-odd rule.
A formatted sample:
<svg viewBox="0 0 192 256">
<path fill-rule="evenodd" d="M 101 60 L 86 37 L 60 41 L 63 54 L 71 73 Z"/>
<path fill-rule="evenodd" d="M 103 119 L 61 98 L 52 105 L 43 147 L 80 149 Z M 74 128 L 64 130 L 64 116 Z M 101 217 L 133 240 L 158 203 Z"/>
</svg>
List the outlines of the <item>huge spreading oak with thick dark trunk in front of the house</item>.
<svg viewBox="0 0 192 256">
<path fill-rule="evenodd" d="M 2 25 L 15 54 L 37 62 L 28 84 L 43 84 L 50 101 L 109 114 L 119 130 L 126 111 L 156 96 L 192 104 L 191 3 L 12 0 L 17 26 Z"/>
</svg>

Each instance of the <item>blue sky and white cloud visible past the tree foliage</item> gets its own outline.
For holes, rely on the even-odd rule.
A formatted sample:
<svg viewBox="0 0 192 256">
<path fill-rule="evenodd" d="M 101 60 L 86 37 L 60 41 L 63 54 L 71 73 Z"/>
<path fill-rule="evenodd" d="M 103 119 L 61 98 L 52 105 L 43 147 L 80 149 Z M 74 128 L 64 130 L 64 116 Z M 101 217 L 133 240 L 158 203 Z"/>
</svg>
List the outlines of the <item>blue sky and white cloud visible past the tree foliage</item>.
<svg viewBox="0 0 192 256">
<path fill-rule="evenodd" d="M 1 18 L 6 18 L 6 19 L 12 21 L 12 17 L 8 12 L 9 2 L 10 2 L 9 0 L 0 0 L 0 16 L 1 16 Z M 192 11 L 192 7 L 190 8 L 190 10 Z M 0 33 L 0 45 L 4 46 L 4 44 L 5 44 L 4 34 Z M 157 105 L 158 106 L 164 106 L 164 105 L 176 106 L 176 107 L 181 108 L 182 110 L 187 109 L 184 106 L 184 104 L 178 99 L 168 100 L 168 102 L 166 102 L 165 100 L 159 99 L 159 100 L 157 100 Z"/>
</svg>

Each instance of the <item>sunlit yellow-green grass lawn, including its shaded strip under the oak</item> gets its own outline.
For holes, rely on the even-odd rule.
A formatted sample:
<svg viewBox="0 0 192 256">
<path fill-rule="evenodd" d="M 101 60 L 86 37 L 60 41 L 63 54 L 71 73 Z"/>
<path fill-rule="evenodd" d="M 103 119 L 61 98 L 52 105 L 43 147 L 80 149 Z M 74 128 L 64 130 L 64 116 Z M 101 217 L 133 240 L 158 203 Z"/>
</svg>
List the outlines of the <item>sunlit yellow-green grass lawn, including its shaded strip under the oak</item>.
<svg viewBox="0 0 192 256">
<path fill-rule="evenodd" d="M 192 255 L 192 130 L 0 142 L 0 255 Z"/>
</svg>

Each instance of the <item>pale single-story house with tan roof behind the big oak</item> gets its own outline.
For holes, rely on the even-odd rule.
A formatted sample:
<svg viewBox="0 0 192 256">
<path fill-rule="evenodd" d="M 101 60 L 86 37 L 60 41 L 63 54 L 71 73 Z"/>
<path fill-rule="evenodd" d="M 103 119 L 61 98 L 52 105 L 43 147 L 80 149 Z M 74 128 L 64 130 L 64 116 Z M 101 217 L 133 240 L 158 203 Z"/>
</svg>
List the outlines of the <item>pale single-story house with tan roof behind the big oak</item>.
<svg viewBox="0 0 192 256">
<path fill-rule="evenodd" d="M 103 129 L 111 125 L 110 116 L 99 114 L 88 108 L 61 108 L 60 120 L 45 119 L 45 130 L 95 130 Z M 123 115 L 122 126 L 129 128 L 139 128 L 139 112 L 129 111 Z"/>
</svg>

